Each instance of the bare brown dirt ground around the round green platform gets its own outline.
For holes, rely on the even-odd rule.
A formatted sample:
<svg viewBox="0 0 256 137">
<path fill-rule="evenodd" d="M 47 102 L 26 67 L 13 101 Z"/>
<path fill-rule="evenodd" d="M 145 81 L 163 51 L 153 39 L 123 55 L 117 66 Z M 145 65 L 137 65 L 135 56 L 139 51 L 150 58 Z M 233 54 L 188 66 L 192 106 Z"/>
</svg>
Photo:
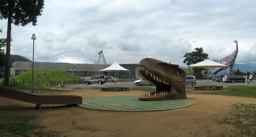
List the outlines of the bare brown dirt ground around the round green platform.
<svg viewBox="0 0 256 137">
<path fill-rule="evenodd" d="M 141 92 L 77 90 L 53 94 L 91 98 L 139 96 Z M 44 130 L 58 132 L 57 137 L 255 137 L 255 123 L 245 121 L 249 126 L 247 132 L 252 132 L 245 136 L 239 135 L 244 132 L 240 126 L 218 125 L 217 121 L 232 118 L 230 114 L 238 111 L 230 108 L 231 104 L 256 104 L 256 98 L 196 93 L 187 93 L 187 97 L 194 103 L 191 107 L 146 112 L 89 110 L 76 106 L 42 110 L 15 109 L 35 107 L 35 104 L 0 97 L 0 115 L 37 115 L 38 119 L 31 122 L 46 126 Z M 253 121 L 255 122 L 255 118 Z"/>
</svg>

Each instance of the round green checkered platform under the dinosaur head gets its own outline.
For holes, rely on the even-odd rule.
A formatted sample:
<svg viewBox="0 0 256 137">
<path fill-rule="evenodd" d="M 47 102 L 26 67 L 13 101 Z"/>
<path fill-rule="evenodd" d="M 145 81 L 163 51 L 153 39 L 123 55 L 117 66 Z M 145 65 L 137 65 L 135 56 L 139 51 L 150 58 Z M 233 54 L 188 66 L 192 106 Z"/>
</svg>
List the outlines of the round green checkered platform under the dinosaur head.
<svg viewBox="0 0 256 137">
<path fill-rule="evenodd" d="M 78 107 L 111 111 L 159 111 L 192 106 L 190 100 L 140 101 L 137 96 L 100 97 L 82 99 Z"/>
</svg>

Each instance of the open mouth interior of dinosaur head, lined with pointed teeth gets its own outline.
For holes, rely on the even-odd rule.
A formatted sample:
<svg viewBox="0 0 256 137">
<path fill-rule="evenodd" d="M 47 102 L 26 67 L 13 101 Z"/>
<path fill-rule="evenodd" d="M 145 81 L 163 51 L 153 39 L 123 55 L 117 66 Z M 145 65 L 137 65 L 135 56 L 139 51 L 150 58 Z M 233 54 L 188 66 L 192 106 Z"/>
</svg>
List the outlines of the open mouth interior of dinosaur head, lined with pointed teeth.
<svg viewBox="0 0 256 137">
<path fill-rule="evenodd" d="M 143 65 L 138 66 L 138 72 L 142 79 L 150 82 L 151 84 L 154 84 L 156 87 L 156 91 L 143 92 L 140 95 L 139 100 L 155 100 L 156 98 L 162 100 L 168 94 L 177 93 L 177 90 L 169 82 L 167 82 L 164 79 L 161 79 L 159 76 L 149 71 Z"/>
</svg>

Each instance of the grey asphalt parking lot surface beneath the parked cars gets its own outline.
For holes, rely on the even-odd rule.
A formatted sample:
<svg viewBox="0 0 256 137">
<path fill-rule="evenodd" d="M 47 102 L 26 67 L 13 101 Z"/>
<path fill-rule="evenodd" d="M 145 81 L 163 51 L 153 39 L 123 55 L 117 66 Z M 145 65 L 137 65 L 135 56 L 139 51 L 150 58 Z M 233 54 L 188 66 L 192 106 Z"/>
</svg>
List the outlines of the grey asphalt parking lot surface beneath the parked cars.
<svg viewBox="0 0 256 137">
<path fill-rule="evenodd" d="M 208 81 L 209 86 L 223 86 L 223 87 L 236 87 L 236 86 L 245 86 L 244 82 L 237 82 L 237 83 L 227 83 L 227 82 L 215 82 L 212 80 Z M 197 80 L 198 86 L 207 85 L 207 80 Z M 137 86 L 133 84 L 133 82 L 117 82 L 117 87 L 129 87 L 129 88 L 136 88 Z M 253 84 L 247 84 L 247 86 L 256 86 L 256 81 Z M 91 88 L 101 88 L 101 87 L 115 87 L 115 83 L 107 82 L 102 85 L 99 84 L 75 84 L 75 85 L 65 85 L 64 88 L 82 88 L 82 89 L 91 89 Z M 139 86 L 145 88 L 155 88 L 154 86 Z M 192 87 L 190 85 L 186 85 L 186 87 Z"/>
</svg>

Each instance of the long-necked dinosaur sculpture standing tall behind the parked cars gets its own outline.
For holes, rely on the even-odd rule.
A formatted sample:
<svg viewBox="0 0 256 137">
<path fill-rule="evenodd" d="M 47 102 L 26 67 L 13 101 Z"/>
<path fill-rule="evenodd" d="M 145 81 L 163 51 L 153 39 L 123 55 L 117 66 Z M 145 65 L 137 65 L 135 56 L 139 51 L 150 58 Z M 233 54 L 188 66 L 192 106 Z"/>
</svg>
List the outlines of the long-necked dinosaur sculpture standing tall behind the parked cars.
<svg viewBox="0 0 256 137">
<path fill-rule="evenodd" d="M 236 60 L 237 55 L 238 55 L 238 41 L 235 40 L 234 42 L 237 44 L 235 51 L 232 54 L 220 59 L 220 61 L 219 61 L 220 64 L 225 64 L 225 65 L 227 65 L 227 67 L 215 68 L 212 71 L 212 73 L 210 74 L 210 77 L 212 75 L 222 71 L 222 70 L 226 70 L 229 75 L 235 74 L 234 64 L 235 64 L 235 60 Z"/>
</svg>

